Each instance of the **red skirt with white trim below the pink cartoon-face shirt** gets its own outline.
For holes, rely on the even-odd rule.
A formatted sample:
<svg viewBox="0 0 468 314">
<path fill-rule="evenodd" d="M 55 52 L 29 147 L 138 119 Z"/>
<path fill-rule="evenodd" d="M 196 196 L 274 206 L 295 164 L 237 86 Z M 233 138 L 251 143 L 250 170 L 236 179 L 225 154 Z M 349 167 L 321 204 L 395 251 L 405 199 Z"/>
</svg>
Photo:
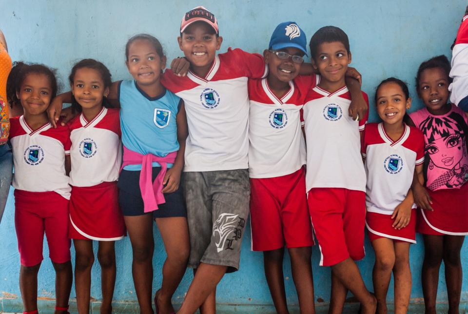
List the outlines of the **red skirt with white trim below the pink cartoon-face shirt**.
<svg viewBox="0 0 468 314">
<path fill-rule="evenodd" d="M 418 209 L 416 232 L 424 235 L 468 235 L 468 183 L 460 189 L 429 191 L 434 211 Z"/>
</svg>

